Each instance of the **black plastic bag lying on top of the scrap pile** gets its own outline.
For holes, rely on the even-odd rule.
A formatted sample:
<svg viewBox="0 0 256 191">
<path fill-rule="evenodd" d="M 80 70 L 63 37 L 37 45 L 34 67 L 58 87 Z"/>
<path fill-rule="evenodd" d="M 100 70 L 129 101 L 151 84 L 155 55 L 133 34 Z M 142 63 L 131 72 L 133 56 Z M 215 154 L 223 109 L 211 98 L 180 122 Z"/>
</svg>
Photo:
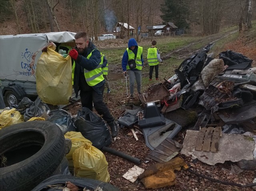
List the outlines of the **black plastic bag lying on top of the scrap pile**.
<svg viewBox="0 0 256 191">
<path fill-rule="evenodd" d="M 219 54 L 219 58 L 223 59 L 224 64 L 228 65 L 228 66 L 242 64 L 242 63 L 248 63 L 247 67 L 251 67 L 251 63 L 252 63 L 252 59 L 249 59 L 248 57 L 246 57 L 240 53 L 233 52 L 231 50 L 221 52 Z"/>
</svg>

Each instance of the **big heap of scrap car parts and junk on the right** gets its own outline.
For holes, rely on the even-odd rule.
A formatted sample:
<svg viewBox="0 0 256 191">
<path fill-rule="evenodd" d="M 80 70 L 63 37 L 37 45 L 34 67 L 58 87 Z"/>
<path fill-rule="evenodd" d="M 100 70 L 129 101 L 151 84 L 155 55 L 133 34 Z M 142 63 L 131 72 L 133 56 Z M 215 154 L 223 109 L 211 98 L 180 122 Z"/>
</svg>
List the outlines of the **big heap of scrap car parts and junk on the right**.
<svg viewBox="0 0 256 191">
<path fill-rule="evenodd" d="M 252 59 L 231 50 L 207 54 L 212 44 L 185 59 L 175 75 L 150 85 L 139 98 L 143 104 L 161 102 L 161 112 L 201 108 L 193 130 L 214 124 L 241 124 L 256 117 L 256 68 Z M 223 124 L 223 126 L 224 126 Z"/>
</svg>

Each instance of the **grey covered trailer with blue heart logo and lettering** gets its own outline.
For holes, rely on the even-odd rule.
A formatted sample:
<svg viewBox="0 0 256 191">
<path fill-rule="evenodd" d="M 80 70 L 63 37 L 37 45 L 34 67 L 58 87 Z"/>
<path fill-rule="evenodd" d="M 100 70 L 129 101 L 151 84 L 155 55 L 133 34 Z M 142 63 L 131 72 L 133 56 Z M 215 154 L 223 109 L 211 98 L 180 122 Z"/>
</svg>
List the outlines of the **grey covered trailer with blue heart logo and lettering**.
<svg viewBox="0 0 256 191">
<path fill-rule="evenodd" d="M 36 76 L 32 75 L 32 55 L 49 41 L 74 43 L 72 32 L 0 35 L 0 90 L 6 106 L 18 104 L 27 95 L 37 95 Z M 42 54 L 38 52 L 33 69 Z M 0 92 L 1 92 L 0 91 Z"/>
</svg>

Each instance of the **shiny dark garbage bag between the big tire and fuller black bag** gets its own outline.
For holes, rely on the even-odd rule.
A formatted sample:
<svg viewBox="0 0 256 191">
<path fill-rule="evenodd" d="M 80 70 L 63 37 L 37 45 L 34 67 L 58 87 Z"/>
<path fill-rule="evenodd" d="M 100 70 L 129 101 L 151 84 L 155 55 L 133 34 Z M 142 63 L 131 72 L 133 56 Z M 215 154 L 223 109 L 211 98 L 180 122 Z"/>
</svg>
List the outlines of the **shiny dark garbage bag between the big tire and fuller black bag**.
<svg viewBox="0 0 256 191">
<path fill-rule="evenodd" d="M 64 134 L 68 131 L 76 131 L 72 116 L 66 110 L 56 109 L 51 111 L 47 121 L 57 124 Z"/>
</svg>

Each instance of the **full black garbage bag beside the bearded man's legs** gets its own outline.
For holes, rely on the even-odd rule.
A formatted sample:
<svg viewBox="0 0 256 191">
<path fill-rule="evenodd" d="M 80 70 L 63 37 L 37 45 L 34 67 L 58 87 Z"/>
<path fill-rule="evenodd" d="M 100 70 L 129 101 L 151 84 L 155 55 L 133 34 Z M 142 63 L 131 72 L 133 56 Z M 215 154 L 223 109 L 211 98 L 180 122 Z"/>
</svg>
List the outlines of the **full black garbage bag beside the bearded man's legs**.
<svg viewBox="0 0 256 191">
<path fill-rule="evenodd" d="M 102 149 L 103 146 L 111 144 L 112 138 L 108 126 L 90 109 L 83 107 L 82 111 L 78 111 L 75 126 L 77 132 L 81 132 L 84 138 L 92 142 L 92 146 Z"/>
</svg>

